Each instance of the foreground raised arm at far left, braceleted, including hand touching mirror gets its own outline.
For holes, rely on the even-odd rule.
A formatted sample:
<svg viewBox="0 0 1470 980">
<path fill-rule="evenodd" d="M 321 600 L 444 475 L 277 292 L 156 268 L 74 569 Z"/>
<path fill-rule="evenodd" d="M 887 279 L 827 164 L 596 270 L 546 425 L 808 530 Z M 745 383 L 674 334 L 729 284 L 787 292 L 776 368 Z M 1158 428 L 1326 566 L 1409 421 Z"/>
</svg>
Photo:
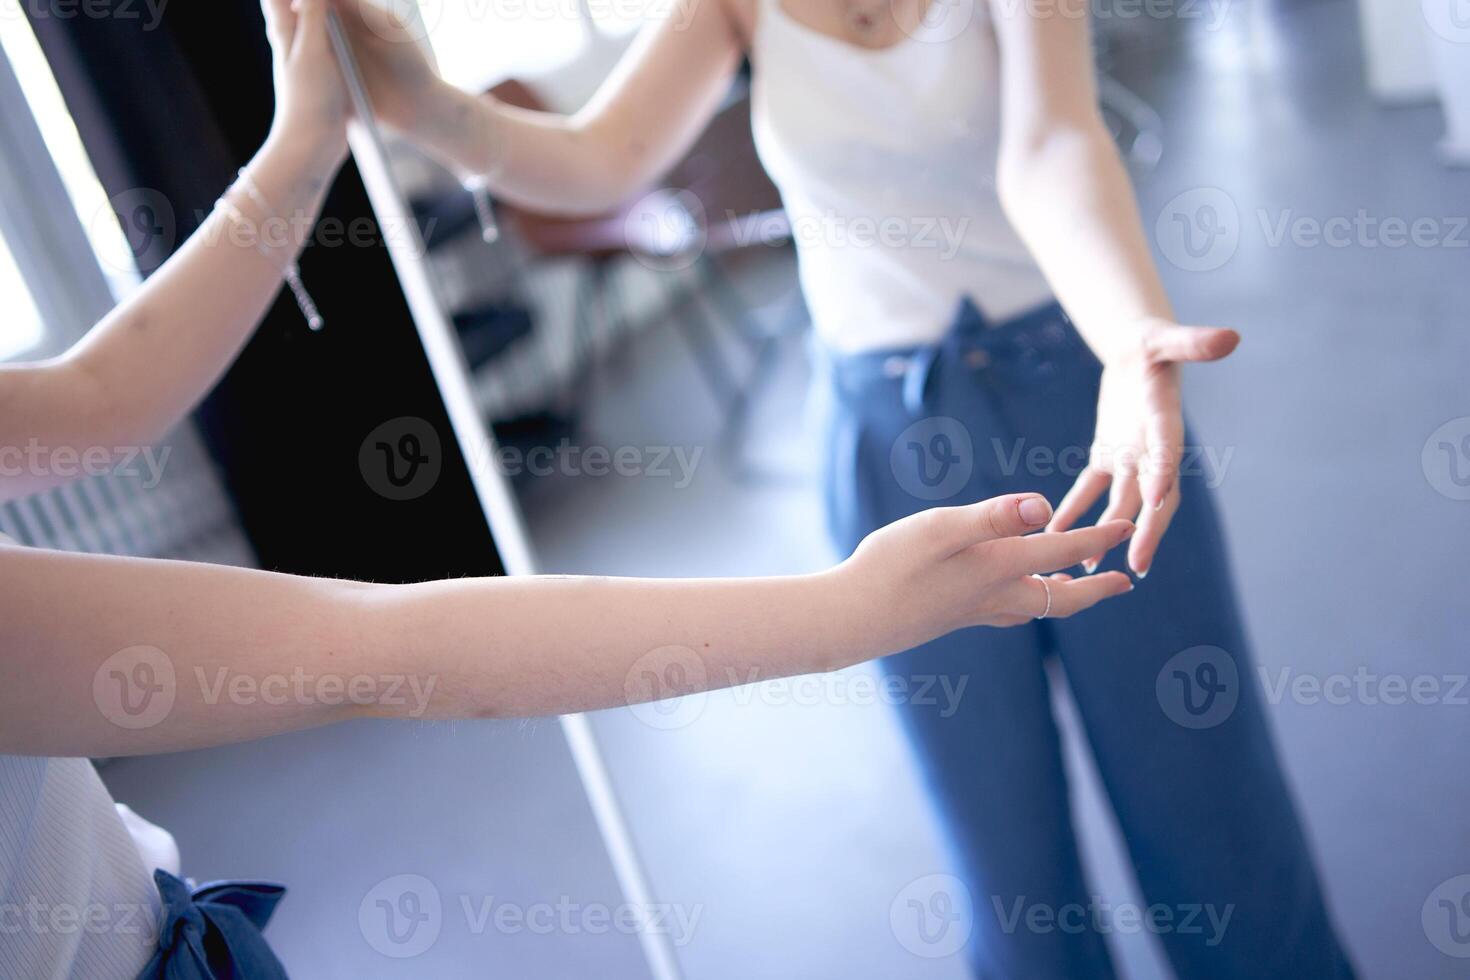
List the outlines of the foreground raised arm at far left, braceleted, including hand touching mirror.
<svg viewBox="0 0 1470 980">
<path fill-rule="evenodd" d="M 54 454 L 146 445 L 176 425 L 244 347 L 281 289 L 345 151 L 345 93 L 325 32 L 326 0 L 268 0 L 276 51 L 276 120 L 243 191 L 66 354 L 0 366 L 0 447 L 34 450 L 7 467 L 0 500 L 34 494 L 72 466 Z M 265 245 L 270 254 L 263 254 Z"/>
</svg>

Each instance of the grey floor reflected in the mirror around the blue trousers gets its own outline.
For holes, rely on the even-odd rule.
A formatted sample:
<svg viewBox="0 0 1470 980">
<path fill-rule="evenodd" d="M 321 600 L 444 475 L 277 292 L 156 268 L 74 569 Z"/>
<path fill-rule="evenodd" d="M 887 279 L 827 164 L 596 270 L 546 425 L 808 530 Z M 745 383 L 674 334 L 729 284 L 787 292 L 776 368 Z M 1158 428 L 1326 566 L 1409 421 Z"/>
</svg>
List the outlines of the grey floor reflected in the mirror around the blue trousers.
<svg viewBox="0 0 1470 980">
<path fill-rule="evenodd" d="M 1189 398 L 1201 441 L 1233 453 L 1220 494 L 1266 676 L 1364 669 L 1448 692 L 1467 670 L 1470 504 L 1436 492 L 1420 451 L 1470 414 L 1470 250 L 1445 220 L 1466 213 L 1470 175 L 1436 165 L 1438 113 L 1366 98 L 1352 7 L 1327 0 L 1232 4 L 1214 29 L 1123 31 L 1110 63 L 1166 122 L 1163 162 L 1139 188 L 1151 231 L 1194 188 L 1219 188 L 1236 209 L 1233 254 L 1202 259 L 1219 269 L 1192 272 L 1167 225 L 1158 245 L 1182 319 L 1247 335 L 1227 367 L 1191 372 Z M 1446 241 L 1273 238 L 1283 216 L 1351 220 L 1360 209 L 1436 219 Z M 678 342 L 654 335 L 629 361 L 638 370 L 613 375 L 600 403 L 600 441 L 707 444 L 717 419 L 691 392 Z M 786 369 L 757 442 L 800 470 L 800 350 Z M 747 574 L 828 557 L 810 486 L 751 491 L 717 464 L 692 491 L 603 480 L 532 520 L 559 570 Z M 678 732 L 598 718 L 657 889 L 706 905 L 684 951 L 689 974 L 963 976 L 910 955 L 889 929 L 904 884 L 945 868 L 891 720 L 841 691 L 804 701 L 779 686 L 719 695 Z M 1470 711 L 1448 693 L 1369 701 L 1272 708 L 1335 912 L 1364 976 L 1464 976 L 1420 914 L 1438 884 L 1470 871 L 1457 752 Z M 1072 742 L 1094 880 L 1136 901 Z M 1151 940 L 1114 939 L 1130 976 L 1167 976 Z"/>
</svg>

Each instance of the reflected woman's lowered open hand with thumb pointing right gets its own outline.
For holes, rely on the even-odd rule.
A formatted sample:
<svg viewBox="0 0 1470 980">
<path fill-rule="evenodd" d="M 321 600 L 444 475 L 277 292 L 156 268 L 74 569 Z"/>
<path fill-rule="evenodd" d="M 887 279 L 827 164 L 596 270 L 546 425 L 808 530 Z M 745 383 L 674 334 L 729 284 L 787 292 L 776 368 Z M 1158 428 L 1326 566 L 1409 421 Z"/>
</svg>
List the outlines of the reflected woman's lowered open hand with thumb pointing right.
<svg viewBox="0 0 1470 980">
<path fill-rule="evenodd" d="M 1150 320 L 1141 341 L 1102 370 L 1097 435 L 1086 469 L 1067 491 L 1048 530 L 1067 530 L 1110 489 L 1100 523 L 1138 520 L 1127 563 L 1148 574 L 1158 542 L 1179 508 L 1183 408 L 1179 364 L 1227 357 L 1241 342 L 1235 331 Z M 1095 554 L 1083 567 L 1097 569 Z"/>
</svg>

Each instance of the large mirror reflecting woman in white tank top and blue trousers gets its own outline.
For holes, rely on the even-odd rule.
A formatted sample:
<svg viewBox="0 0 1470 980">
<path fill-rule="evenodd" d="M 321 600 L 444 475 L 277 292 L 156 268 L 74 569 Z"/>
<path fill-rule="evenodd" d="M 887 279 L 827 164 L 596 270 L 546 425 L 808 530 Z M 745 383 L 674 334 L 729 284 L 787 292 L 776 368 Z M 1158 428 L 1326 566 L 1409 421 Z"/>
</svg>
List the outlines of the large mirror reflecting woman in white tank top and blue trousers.
<svg viewBox="0 0 1470 980">
<path fill-rule="evenodd" d="M 1467 353 L 1449 325 L 1470 295 L 1463 220 L 1444 217 L 1467 188 L 1442 166 L 1463 116 L 1444 85 L 1438 147 L 1439 109 L 1379 103 L 1463 78 L 1454 21 L 1361 0 L 1396 32 L 1385 43 L 1344 26 L 1347 0 L 729 0 L 722 28 L 697 0 L 613 6 L 394 3 L 463 93 L 460 119 L 494 106 L 500 151 L 522 156 L 466 182 L 473 167 L 445 147 L 476 153 L 470 123 L 425 135 L 400 120 L 376 126 L 365 162 L 379 216 L 422 231 L 400 275 L 454 378 L 457 425 L 495 436 L 484 494 L 525 522 L 519 572 L 532 554 L 559 573 L 814 572 L 866 530 L 976 489 L 1060 504 L 1095 448 L 1100 307 L 1148 292 L 1157 269 L 1182 323 L 1245 335 L 1220 364 L 1183 369 L 1183 502 L 1130 605 L 713 695 L 659 676 L 669 699 L 570 723 L 625 889 L 697 921 L 645 943 L 654 973 L 1014 973 L 1007 956 L 1085 934 L 1066 955 L 1189 976 L 1252 943 L 1299 945 L 1273 932 L 1280 907 L 1307 909 L 1307 945 L 1329 959 L 1342 937 L 1385 970 L 1411 949 L 1426 976 L 1446 949 L 1470 954 L 1441 921 L 1470 892 L 1445 858 L 1463 821 L 1408 826 L 1367 802 L 1385 786 L 1454 795 L 1432 779 L 1454 760 L 1404 739 L 1448 745 L 1464 721 L 1392 714 L 1380 695 L 1414 679 L 1448 692 L 1449 633 L 1414 649 L 1402 636 L 1470 623 L 1320 574 L 1349 552 L 1404 567 L 1382 542 L 1344 544 L 1352 514 L 1389 501 L 1423 532 L 1404 591 L 1442 597 L 1452 574 L 1451 545 L 1430 542 L 1470 495 L 1446 367 Z M 1000 48 L 1025 44 L 1014 19 L 1053 29 L 1082 13 L 1095 87 L 1055 81 L 1055 65 L 1033 81 L 1095 98 L 1088 145 L 1122 166 L 1036 151 L 1003 181 L 1003 87 L 1017 82 Z M 601 129 L 566 137 L 578 119 Z M 619 167 L 639 179 L 607 176 Z M 1123 170 L 1138 209 L 1119 217 Z M 1430 298 L 1385 298 L 1408 292 Z M 1150 520 L 1141 501 L 1135 514 Z M 1329 702 L 1329 688 L 1354 693 Z M 1248 815 L 1220 793 L 1235 765 L 1266 801 Z M 1372 829 L 1342 817 L 1363 807 Z M 1270 843 L 1220 852 L 1236 817 Z M 1207 855 L 1186 884 L 1170 877 L 1189 864 L 1180 842 Z M 1035 871 L 1058 854 L 1080 868 L 1067 887 Z M 1369 874 L 1364 855 L 1402 871 Z M 1216 904 L 1232 867 L 1320 884 Z M 1363 911 L 1385 887 L 1394 923 Z M 1198 902 L 1166 902 L 1173 926 L 1144 915 L 1170 889 Z M 1073 912 L 1028 905 L 1048 890 L 1094 896 L 1078 907 L 1089 926 L 1036 926 Z M 1127 909 L 1141 924 L 1123 926 Z M 1202 915 L 1208 933 L 1210 914 L 1214 943 L 1177 927 Z"/>
</svg>

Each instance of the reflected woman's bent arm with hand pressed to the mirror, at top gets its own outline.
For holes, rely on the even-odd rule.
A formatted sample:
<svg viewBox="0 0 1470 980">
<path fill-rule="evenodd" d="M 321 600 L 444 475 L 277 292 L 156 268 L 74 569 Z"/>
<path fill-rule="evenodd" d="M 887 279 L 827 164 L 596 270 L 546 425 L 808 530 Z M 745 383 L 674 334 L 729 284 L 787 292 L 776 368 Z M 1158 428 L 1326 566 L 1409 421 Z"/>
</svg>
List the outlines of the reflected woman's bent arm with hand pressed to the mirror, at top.
<svg viewBox="0 0 1470 980">
<path fill-rule="evenodd" d="M 392 13 L 368 0 L 332 3 L 384 122 L 497 195 L 553 215 L 606 212 L 678 163 L 729 90 L 742 50 L 723 3 L 675 0 L 592 100 L 566 116 L 460 91 Z"/>
</svg>

